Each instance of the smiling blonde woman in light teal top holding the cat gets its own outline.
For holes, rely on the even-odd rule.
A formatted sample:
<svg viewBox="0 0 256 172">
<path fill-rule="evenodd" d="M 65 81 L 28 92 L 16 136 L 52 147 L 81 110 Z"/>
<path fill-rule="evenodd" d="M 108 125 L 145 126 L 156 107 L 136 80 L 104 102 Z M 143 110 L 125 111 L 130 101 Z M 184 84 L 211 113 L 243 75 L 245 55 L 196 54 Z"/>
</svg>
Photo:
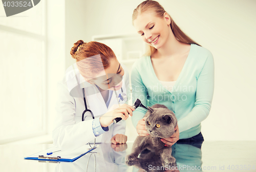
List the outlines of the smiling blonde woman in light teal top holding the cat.
<svg viewBox="0 0 256 172">
<path fill-rule="evenodd" d="M 201 121 L 209 114 L 214 93 L 212 54 L 183 33 L 156 1 L 144 1 L 136 8 L 133 24 L 150 46 L 132 69 L 133 100 L 139 98 L 147 106 L 163 104 L 175 113 L 178 127 L 172 137 L 161 139 L 165 146 L 179 139 L 203 141 Z M 144 114 L 138 108 L 132 117 L 140 136 L 148 134 Z"/>
</svg>

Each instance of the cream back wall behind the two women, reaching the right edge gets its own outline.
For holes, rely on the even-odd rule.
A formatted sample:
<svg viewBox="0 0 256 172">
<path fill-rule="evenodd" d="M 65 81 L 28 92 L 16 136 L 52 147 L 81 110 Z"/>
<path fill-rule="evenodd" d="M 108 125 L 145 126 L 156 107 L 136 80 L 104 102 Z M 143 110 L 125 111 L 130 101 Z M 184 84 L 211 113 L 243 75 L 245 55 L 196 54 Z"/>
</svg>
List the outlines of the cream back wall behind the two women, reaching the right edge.
<svg viewBox="0 0 256 172">
<path fill-rule="evenodd" d="M 75 62 L 70 49 L 93 35 L 136 33 L 133 10 L 142 1 L 66 1 L 66 68 Z M 215 93 L 205 140 L 256 140 L 256 1 L 158 1 L 178 26 L 206 47 L 215 59 Z M 133 128 L 132 124 L 128 123 Z M 133 140 L 134 129 L 127 134 Z"/>
</svg>

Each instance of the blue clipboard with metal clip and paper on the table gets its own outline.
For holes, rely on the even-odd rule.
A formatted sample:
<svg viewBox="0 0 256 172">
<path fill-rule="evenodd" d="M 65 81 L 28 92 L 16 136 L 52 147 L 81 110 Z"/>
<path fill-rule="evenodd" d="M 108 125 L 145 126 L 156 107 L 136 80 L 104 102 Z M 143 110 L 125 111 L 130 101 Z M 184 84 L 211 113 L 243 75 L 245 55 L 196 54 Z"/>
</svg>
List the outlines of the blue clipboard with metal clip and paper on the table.
<svg viewBox="0 0 256 172">
<path fill-rule="evenodd" d="M 60 149 L 57 147 L 53 147 L 50 149 L 47 149 L 45 151 L 38 152 L 36 154 L 30 155 L 28 157 L 25 157 L 24 159 L 32 159 L 32 160 L 38 160 L 39 162 L 74 162 L 78 158 L 82 157 L 83 155 L 86 155 L 87 153 L 95 150 L 97 147 L 94 147 L 93 149 L 89 149 L 89 145 L 83 145 L 80 148 L 73 150 L 73 151 L 59 151 Z M 47 155 L 48 152 L 55 152 L 51 155 Z"/>
</svg>

